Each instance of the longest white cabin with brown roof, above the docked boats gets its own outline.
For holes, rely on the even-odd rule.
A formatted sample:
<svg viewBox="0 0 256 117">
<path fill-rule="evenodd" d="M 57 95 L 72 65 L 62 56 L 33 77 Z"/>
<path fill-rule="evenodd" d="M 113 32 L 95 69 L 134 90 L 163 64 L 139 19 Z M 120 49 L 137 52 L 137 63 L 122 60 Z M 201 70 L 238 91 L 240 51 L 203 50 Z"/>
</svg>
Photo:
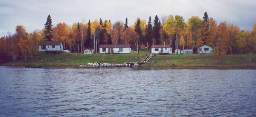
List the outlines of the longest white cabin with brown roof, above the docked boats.
<svg viewBox="0 0 256 117">
<path fill-rule="evenodd" d="M 100 54 L 131 54 L 130 44 L 102 44 L 99 46 Z"/>
</svg>

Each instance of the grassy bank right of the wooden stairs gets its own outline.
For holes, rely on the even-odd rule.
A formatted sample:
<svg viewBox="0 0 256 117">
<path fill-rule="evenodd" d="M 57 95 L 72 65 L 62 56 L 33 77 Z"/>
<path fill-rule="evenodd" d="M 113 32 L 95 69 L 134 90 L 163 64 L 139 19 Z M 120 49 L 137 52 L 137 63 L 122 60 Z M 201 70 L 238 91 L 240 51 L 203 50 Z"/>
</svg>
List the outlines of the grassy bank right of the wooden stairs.
<svg viewBox="0 0 256 117">
<path fill-rule="evenodd" d="M 227 55 L 222 63 L 212 54 L 171 54 L 153 56 L 145 66 L 256 66 L 256 54 Z"/>
</svg>

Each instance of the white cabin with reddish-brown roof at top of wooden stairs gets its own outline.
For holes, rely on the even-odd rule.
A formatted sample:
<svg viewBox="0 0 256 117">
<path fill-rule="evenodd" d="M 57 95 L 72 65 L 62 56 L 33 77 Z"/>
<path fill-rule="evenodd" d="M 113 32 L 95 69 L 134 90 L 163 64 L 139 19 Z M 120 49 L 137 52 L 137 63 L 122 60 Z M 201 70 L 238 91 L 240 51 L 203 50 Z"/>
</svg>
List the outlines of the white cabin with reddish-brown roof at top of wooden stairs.
<svg viewBox="0 0 256 117">
<path fill-rule="evenodd" d="M 171 45 L 152 45 L 151 54 L 172 54 Z"/>
</svg>

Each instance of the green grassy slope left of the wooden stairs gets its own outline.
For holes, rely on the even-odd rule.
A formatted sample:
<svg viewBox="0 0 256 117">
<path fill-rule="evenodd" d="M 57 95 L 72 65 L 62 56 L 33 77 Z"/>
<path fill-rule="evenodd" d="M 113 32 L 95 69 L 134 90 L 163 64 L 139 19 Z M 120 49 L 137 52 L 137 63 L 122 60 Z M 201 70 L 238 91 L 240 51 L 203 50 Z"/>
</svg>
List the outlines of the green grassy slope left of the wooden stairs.
<svg viewBox="0 0 256 117">
<path fill-rule="evenodd" d="M 17 62 L 6 63 L 4 65 L 15 66 L 73 66 L 87 65 L 87 63 L 125 63 L 139 62 L 140 58 L 144 58 L 147 51 L 142 51 L 140 54 L 133 52 L 132 54 L 77 54 L 77 53 L 62 53 L 62 54 L 44 54 L 44 52 L 33 53 L 28 57 L 28 62 L 22 60 Z"/>
</svg>

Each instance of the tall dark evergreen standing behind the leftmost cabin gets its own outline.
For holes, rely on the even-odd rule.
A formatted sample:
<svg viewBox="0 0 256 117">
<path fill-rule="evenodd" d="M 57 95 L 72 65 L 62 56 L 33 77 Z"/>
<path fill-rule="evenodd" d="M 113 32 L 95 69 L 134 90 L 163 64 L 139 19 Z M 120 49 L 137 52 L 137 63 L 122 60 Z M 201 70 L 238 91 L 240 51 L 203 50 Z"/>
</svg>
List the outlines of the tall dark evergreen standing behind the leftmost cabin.
<svg viewBox="0 0 256 117">
<path fill-rule="evenodd" d="M 46 40 L 51 41 L 52 40 L 52 18 L 50 15 L 47 17 L 47 21 L 44 24 L 44 37 Z"/>
</svg>

